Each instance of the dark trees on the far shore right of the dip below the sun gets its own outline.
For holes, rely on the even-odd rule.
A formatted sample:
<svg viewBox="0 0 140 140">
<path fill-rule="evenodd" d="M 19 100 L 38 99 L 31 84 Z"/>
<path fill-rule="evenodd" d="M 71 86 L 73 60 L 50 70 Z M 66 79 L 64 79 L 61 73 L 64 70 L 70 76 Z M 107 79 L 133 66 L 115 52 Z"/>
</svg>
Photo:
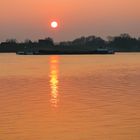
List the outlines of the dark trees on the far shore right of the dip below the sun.
<svg viewBox="0 0 140 140">
<path fill-rule="evenodd" d="M 80 37 L 73 41 L 60 42 L 60 46 L 81 46 L 95 49 L 112 49 L 116 52 L 137 52 L 140 51 L 140 38 L 133 38 L 129 34 L 121 34 L 115 37 L 109 36 L 107 40 L 101 37 L 88 36 Z"/>
</svg>

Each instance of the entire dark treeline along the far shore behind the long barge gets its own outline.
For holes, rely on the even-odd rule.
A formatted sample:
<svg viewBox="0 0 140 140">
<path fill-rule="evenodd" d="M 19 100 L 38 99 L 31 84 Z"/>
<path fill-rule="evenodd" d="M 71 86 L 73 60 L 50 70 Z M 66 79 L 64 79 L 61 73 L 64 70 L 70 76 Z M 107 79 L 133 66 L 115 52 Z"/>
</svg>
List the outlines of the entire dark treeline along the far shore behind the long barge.
<svg viewBox="0 0 140 140">
<path fill-rule="evenodd" d="M 73 41 L 64 41 L 57 44 L 54 43 L 52 38 L 39 39 L 36 42 L 25 40 L 25 42 L 20 43 L 15 39 L 8 39 L 0 43 L 0 52 L 49 50 L 55 47 L 61 49 L 84 48 L 88 50 L 110 49 L 116 52 L 140 52 L 140 38 L 131 37 L 129 34 L 109 36 L 107 40 L 96 36 L 83 36 Z"/>
</svg>

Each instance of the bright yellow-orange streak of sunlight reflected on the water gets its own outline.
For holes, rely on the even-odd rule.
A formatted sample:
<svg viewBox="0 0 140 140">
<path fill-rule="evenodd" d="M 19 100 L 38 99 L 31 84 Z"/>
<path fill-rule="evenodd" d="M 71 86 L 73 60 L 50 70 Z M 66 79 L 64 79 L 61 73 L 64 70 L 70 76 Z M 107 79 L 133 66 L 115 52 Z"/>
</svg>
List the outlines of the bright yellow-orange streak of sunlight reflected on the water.
<svg viewBox="0 0 140 140">
<path fill-rule="evenodd" d="M 51 56 L 50 57 L 50 88 L 51 88 L 51 105 L 53 107 L 58 106 L 58 56 Z"/>
</svg>

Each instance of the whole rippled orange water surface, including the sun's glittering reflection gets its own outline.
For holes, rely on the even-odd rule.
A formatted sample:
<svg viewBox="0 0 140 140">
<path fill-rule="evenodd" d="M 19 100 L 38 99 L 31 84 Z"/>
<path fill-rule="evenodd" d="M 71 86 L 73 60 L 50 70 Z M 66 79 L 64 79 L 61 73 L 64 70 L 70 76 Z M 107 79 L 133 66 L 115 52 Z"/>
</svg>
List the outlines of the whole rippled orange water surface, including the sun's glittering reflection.
<svg viewBox="0 0 140 140">
<path fill-rule="evenodd" d="M 0 140 L 139 140 L 140 54 L 0 54 Z"/>
</svg>

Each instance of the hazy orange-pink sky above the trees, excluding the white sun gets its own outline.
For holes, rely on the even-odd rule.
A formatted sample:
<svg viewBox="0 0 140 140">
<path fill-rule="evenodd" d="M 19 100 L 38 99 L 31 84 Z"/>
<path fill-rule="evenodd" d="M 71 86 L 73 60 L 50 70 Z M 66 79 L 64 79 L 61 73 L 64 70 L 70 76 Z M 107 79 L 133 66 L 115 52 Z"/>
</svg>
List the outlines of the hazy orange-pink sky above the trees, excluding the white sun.
<svg viewBox="0 0 140 140">
<path fill-rule="evenodd" d="M 50 29 L 57 20 L 59 28 Z M 0 0 L 0 41 L 6 38 L 56 41 L 120 33 L 140 36 L 140 0 Z"/>
</svg>

